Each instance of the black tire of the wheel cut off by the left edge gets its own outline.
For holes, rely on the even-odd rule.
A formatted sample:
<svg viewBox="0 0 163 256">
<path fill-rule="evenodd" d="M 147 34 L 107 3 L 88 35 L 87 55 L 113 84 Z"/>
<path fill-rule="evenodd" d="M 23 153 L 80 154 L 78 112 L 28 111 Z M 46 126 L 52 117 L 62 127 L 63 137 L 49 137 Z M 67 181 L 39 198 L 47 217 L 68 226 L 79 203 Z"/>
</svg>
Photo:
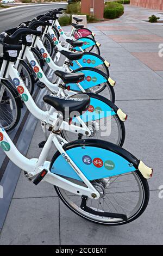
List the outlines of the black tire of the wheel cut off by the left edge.
<svg viewBox="0 0 163 256">
<path fill-rule="evenodd" d="M 0 120 L 0 123 L 4 127 L 6 131 L 11 131 L 13 130 L 16 125 L 18 124 L 20 117 L 21 117 L 21 108 L 22 108 L 22 101 L 20 96 L 17 93 L 17 90 L 15 87 L 7 80 L 1 80 L 2 86 L 5 88 L 4 92 L 4 99 L 2 98 L 2 101 L 0 102 L 0 117 L 3 118 Z M 0 85 L 0 93 L 1 93 L 1 85 Z M 12 108 L 14 109 L 15 107 L 15 117 L 14 120 L 11 122 L 9 118 L 12 118 L 14 115 L 10 114 L 7 107 L 9 105 L 9 97 L 10 100 L 13 101 L 12 103 Z M 1 105 L 4 104 L 4 106 Z M 1 107 L 2 106 L 2 107 Z M 14 107 L 13 107 L 14 106 Z M 5 111 L 7 109 L 7 115 L 5 115 Z M 6 123 L 6 117 L 8 117 L 8 125 Z"/>
</svg>

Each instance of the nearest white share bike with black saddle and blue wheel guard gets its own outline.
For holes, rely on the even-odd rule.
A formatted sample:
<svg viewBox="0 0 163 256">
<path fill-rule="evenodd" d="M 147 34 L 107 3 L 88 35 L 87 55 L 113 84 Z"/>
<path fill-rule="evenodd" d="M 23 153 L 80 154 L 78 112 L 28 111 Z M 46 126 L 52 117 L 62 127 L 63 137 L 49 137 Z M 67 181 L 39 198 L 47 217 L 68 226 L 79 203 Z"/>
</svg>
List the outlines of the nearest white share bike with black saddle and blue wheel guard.
<svg viewBox="0 0 163 256">
<path fill-rule="evenodd" d="M 89 107 L 89 96 L 80 94 L 65 100 L 46 95 L 43 100 L 55 107 L 58 115 L 50 126 L 51 133 L 39 158 L 23 156 L 0 124 L 0 145 L 4 153 L 24 170 L 24 175 L 33 184 L 38 185 L 41 181 L 53 184 L 62 202 L 86 220 L 122 225 L 138 218 L 148 205 L 147 179 L 151 178 L 153 169 L 115 144 L 98 139 L 67 143 L 60 137 L 65 108 L 70 108 L 68 119 L 73 117 L 74 109 L 81 115 Z M 46 159 L 53 143 L 57 153 L 49 162 Z M 101 161 L 98 168 L 93 164 L 96 159 Z M 120 182 L 121 186 L 117 186 Z"/>
</svg>

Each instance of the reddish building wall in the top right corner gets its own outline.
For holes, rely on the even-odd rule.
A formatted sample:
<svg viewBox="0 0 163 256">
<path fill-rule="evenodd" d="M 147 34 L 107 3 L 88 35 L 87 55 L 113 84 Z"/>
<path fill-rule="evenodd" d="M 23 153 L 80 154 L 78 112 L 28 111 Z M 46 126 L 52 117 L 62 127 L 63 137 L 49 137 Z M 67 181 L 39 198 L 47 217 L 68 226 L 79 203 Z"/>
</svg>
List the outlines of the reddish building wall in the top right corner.
<svg viewBox="0 0 163 256">
<path fill-rule="evenodd" d="M 130 0 L 130 5 L 163 10 L 163 0 Z"/>
</svg>

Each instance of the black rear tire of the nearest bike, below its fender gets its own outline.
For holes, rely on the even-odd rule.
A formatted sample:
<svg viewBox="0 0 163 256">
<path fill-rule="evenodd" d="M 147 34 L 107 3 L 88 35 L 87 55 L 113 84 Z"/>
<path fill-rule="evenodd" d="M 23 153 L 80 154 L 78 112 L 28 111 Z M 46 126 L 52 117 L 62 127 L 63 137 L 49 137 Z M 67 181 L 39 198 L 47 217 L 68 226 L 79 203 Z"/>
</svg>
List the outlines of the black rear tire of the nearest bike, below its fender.
<svg viewBox="0 0 163 256">
<path fill-rule="evenodd" d="M 64 199 L 64 197 L 62 197 L 62 194 L 60 192 L 60 188 L 57 187 L 57 186 L 54 186 L 55 188 L 55 191 L 57 192 L 59 198 L 61 199 L 61 201 L 71 210 L 74 212 L 74 214 L 77 214 L 78 216 L 84 218 L 85 220 L 87 221 L 90 221 L 90 222 L 93 222 L 93 223 L 96 223 L 96 224 L 101 224 L 101 225 L 124 225 L 124 224 L 127 224 L 129 222 L 132 222 L 134 220 L 136 220 L 137 218 L 139 218 L 143 212 L 146 210 L 147 208 L 147 205 L 148 205 L 148 202 L 149 202 L 149 186 L 148 186 L 148 182 L 145 178 L 143 178 L 142 174 L 139 172 L 139 170 L 136 170 L 135 173 L 137 174 L 137 176 L 140 178 L 141 182 L 142 182 L 142 186 L 143 186 L 143 190 L 144 190 L 144 200 L 142 202 L 142 206 L 140 208 L 139 211 L 137 211 L 135 213 L 135 215 L 132 217 L 132 218 L 129 218 L 129 220 L 127 221 L 122 221 L 122 222 L 118 222 L 118 223 L 102 223 L 102 222 L 97 222 L 97 221 L 93 221 L 93 220 L 90 220 L 88 218 L 86 218 L 85 216 L 83 215 L 80 215 L 79 212 L 77 212 L 76 210 L 74 210 L 70 204 L 68 204 L 66 202 L 66 200 Z"/>
</svg>

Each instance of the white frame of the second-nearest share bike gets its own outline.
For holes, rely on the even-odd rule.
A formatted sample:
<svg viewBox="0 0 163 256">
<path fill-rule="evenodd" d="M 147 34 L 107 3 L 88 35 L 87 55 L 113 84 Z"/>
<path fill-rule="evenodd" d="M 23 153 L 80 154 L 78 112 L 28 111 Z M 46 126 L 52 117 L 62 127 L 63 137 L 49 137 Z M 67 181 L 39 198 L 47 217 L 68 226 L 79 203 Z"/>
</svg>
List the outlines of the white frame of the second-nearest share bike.
<svg viewBox="0 0 163 256">
<path fill-rule="evenodd" d="M 32 96 L 28 92 L 28 89 L 25 86 L 21 76 L 18 74 L 18 71 L 15 68 L 14 63 L 12 63 L 12 62 L 8 63 L 7 72 L 5 74 L 5 77 L 3 77 L 6 65 L 7 65 L 7 60 L 3 60 L 2 68 L 1 68 L 1 71 L 0 71 L 0 82 L 1 82 L 1 79 L 9 79 L 9 78 L 11 78 L 12 81 L 14 80 L 14 78 L 17 78 L 17 80 L 20 81 L 20 85 L 18 84 L 18 86 L 21 86 L 21 89 L 22 89 L 23 93 L 19 92 L 18 86 L 17 86 L 17 90 L 20 93 L 21 97 L 22 97 L 23 94 L 26 95 L 27 100 L 24 100 L 23 97 L 22 97 L 22 99 L 24 100 L 24 103 L 26 104 L 29 112 L 32 113 L 34 115 L 34 117 L 41 120 L 42 129 L 43 129 L 43 131 L 45 131 L 45 126 L 46 126 L 46 129 L 48 129 L 49 126 L 51 126 L 53 124 L 53 122 L 55 120 L 57 120 L 58 113 L 54 111 L 53 107 L 51 107 L 49 109 L 49 111 L 42 111 L 42 109 L 37 107 L 37 105 L 35 104 Z M 62 92 L 60 90 L 60 95 L 65 96 L 64 90 L 62 90 Z M 79 126 L 72 125 L 72 124 L 69 125 L 66 121 L 62 121 L 60 129 L 70 131 L 70 132 L 74 132 L 76 134 L 82 133 L 82 135 L 87 134 L 87 136 L 91 136 L 91 131 L 86 126 L 84 121 L 80 117 L 77 117 L 77 119 L 79 121 L 79 124 L 82 125 L 82 127 L 80 127 L 80 125 Z"/>
</svg>

